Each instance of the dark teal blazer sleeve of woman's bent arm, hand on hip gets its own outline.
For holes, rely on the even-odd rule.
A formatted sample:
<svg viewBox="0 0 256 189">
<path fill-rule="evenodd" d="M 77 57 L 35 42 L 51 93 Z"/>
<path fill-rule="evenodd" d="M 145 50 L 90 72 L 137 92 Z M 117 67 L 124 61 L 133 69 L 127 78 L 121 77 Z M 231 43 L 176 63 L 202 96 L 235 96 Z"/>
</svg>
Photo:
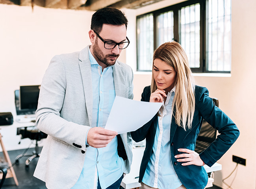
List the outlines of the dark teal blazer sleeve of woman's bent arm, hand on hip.
<svg viewBox="0 0 256 189">
<path fill-rule="evenodd" d="M 233 145 L 239 136 L 239 130 L 234 122 L 215 106 L 208 94 L 207 88 L 200 87 L 195 96 L 196 106 L 203 119 L 220 133 L 215 141 L 200 154 L 203 162 L 211 167 Z"/>
</svg>

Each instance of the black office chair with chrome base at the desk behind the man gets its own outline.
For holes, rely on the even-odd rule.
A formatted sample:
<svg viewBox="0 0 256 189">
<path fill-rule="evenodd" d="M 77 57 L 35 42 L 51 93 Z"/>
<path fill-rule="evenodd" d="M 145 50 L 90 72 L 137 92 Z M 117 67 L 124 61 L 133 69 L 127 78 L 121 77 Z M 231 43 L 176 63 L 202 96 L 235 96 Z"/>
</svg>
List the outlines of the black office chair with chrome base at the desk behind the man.
<svg viewBox="0 0 256 189">
<path fill-rule="evenodd" d="M 16 106 L 16 112 L 17 115 L 25 115 L 25 114 L 34 114 L 35 111 L 30 111 L 29 109 L 20 109 L 19 107 L 19 90 L 15 90 L 15 106 Z M 41 132 L 36 128 L 36 126 L 28 126 L 28 127 L 22 127 L 17 128 L 17 135 L 21 135 L 21 139 L 29 138 L 31 140 L 36 141 L 35 150 L 33 153 L 30 154 L 20 154 L 15 158 L 15 162 L 19 163 L 19 159 L 23 156 L 30 156 L 28 159 L 26 159 L 26 167 L 28 167 L 30 161 L 32 161 L 34 158 L 37 158 L 40 156 L 39 150 L 38 150 L 38 141 L 41 141 L 41 139 L 44 139 L 47 137 L 47 134 Z"/>
</svg>

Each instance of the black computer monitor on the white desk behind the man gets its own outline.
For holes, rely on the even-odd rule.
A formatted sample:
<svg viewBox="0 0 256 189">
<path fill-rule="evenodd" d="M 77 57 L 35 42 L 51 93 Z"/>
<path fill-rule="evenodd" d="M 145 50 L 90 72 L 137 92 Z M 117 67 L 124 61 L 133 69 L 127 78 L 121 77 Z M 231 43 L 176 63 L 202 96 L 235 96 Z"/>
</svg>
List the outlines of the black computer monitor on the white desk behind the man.
<svg viewBox="0 0 256 189">
<path fill-rule="evenodd" d="M 35 113 L 38 106 L 39 91 L 40 85 L 20 86 L 19 109 L 21 110 L 21 114 Z"/>
</svg>

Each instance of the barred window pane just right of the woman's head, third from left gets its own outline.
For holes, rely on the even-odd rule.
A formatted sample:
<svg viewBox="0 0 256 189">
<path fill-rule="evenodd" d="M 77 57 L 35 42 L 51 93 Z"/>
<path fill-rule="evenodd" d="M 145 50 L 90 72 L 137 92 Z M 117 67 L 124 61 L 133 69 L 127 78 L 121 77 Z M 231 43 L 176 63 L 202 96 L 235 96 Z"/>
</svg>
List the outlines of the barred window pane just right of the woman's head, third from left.
<svg viewBox="0 0 256 189">
<path fill-rule="evenodd" d="M 191 68 L 200 67 L 200 4 L 181 8 L 181 46 Z"/>
</svg>

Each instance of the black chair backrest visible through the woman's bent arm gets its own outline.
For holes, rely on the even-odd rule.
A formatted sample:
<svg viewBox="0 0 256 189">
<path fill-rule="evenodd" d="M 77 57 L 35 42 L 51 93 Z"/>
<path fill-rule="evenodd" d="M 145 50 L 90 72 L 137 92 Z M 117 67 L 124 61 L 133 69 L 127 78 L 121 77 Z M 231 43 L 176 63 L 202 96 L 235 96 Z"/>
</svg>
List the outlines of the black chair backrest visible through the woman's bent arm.
<svg viewBox="0 0 256 189">
<path fill-rule="evenodd" d="M 218 99 L 213 98 L 215 106 L 218 106 Z M 207 121 L 203 120 L 203 124 L 196 140 L 195 152 L 200 154 L 205 150 L 215 139 L 217 130 L 213 128 Z"/>
</svg>

